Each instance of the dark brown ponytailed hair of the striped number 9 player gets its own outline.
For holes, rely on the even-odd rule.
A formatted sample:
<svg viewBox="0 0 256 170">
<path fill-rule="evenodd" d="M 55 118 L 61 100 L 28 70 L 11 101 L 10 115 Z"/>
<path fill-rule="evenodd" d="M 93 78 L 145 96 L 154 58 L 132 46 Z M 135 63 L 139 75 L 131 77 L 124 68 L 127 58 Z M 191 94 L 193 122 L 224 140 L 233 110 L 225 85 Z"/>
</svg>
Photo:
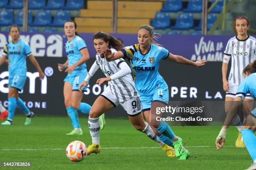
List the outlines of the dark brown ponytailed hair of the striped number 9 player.
<svg viewBox="0 0 256 170">
<path fill-rule="evenodd" d="M 94 39 L 102 39 L 105 42 L 108 42 L 109 47 L 113 47 L 115 50 L 121 50 L 123 48 L 123 44 L 120 40 L 117 40 L 115 37 L 109 35 L 106 32 L 97 32 L 92 36 L 92 40 Z"/>
</svg>

